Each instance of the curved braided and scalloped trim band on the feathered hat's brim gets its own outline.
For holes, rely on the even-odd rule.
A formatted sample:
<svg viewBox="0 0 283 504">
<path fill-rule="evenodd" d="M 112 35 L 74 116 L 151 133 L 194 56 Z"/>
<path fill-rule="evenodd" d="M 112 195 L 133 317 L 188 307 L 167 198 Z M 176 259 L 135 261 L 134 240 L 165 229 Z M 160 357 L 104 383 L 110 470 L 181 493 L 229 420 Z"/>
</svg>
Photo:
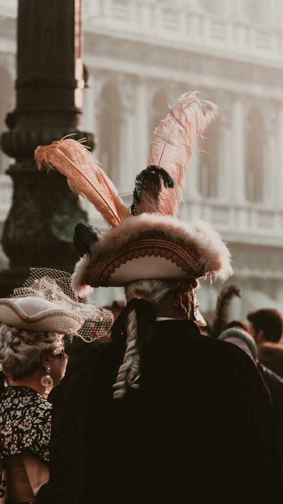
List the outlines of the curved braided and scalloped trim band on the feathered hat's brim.
<svg viewBox="0 0 283 504">
<path fill-rule="evenodd" d="M 133 241 L 119 250 L 118 253 L 100 261 L 92 272 L 89 285 L 92 287 L 107 286 L 110 276 L 121 264 L 145 256 L 165 257 L 187 274 L 194 275 L 195 277 L 204 275 L 203 270 L 197 266 L 199 256 L 195 250 L 191 249 L 190 254 L 188 254 L 183 247 L 176 243 L 153 238 Z"/>
</svg>

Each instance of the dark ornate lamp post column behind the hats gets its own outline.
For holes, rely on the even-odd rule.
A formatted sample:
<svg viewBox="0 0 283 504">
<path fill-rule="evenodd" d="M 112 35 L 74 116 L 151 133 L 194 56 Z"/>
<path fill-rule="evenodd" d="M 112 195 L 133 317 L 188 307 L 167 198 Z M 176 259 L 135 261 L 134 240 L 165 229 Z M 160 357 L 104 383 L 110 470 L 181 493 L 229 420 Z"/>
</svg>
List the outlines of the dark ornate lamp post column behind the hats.
<svg viewBox="0 0 283 504">
<path fill-rule="evenodd" d="M 7 115 L 3 151 L 15 158 L 11 211 L 2 244 L 10 268 L 0 273 L 0 297 L 20 285 L 28 268 L 71 271 L 77 255 L 75 224 L 85 220 L 78 197 L 58 173 L 38 172 L 34 149 L 76 133 L 83 103 L 80 0 L 19 0 L 17 105 Z"/>
</svg>

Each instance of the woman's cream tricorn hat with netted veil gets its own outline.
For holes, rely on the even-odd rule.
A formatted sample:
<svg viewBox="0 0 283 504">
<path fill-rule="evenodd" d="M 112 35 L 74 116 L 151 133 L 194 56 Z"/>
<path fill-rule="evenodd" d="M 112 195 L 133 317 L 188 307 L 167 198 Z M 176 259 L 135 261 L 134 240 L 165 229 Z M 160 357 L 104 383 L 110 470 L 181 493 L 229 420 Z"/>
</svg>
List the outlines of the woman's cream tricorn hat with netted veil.
<svg viewBox="0 0 283 504">
<path fill-rule="evenodd" d="M 0 323 L 29 331 L 77 335 L 85 341 L 104 336 L 113 324 L 111 311 L 78 298 L 69 273 L 32 268 L 23 287 L 0 299 Z"/>
</svg>

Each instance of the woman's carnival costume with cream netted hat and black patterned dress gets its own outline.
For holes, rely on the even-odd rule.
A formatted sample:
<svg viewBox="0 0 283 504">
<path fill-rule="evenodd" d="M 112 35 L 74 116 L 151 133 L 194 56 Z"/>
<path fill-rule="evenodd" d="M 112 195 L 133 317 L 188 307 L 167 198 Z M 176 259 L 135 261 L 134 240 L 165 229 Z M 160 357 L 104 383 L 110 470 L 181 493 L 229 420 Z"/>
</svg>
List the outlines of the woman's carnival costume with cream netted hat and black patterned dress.
<svg viewBox="0 0 283 504">
<path fill-rule="evenodd" d="M 2 373 L 9 376 L 9 352 L 25 355 L 37 341 L 45 341 L 45 334 L 52 335 L 51 354 L 65 358 L 64 336 L 92 341 L 108 332 L 112 322 L 111 312 L 74 295 L 68 273 L 31 269 L 23 287 L 0 299 Z M 25 369 L 19 374 L 25 376 Z M 41 384 L 47 395 L 52 387 L 48 370 Z M 2 385 L 0 428 L 1 502 L 38 501 L 49 477 L 51 403 L 29 387 Z"/>
</svg>

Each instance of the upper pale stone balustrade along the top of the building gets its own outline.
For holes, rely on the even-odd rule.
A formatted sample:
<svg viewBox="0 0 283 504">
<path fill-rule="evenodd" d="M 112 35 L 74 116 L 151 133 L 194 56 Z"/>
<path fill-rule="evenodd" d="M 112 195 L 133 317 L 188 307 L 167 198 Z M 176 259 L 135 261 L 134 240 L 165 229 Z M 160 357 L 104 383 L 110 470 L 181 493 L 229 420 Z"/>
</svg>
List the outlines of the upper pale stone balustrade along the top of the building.
<svg viewBox="0 0 283 504">
<path fill-rule="evenodd" d="M 145 33 L 156 40 L 172 41 L 183 47 L 194 43 L 210 50 L 231 51 L 258 58 L 281 60 L 282 30 L 257 25 L 248 19 L 227 18 L 193 5 L 168 5 L 150 0 L 85 0 L 85 31 L 111 29 Z M 146 19 L 145 19 L 146 18 Z"/>
</svg>

